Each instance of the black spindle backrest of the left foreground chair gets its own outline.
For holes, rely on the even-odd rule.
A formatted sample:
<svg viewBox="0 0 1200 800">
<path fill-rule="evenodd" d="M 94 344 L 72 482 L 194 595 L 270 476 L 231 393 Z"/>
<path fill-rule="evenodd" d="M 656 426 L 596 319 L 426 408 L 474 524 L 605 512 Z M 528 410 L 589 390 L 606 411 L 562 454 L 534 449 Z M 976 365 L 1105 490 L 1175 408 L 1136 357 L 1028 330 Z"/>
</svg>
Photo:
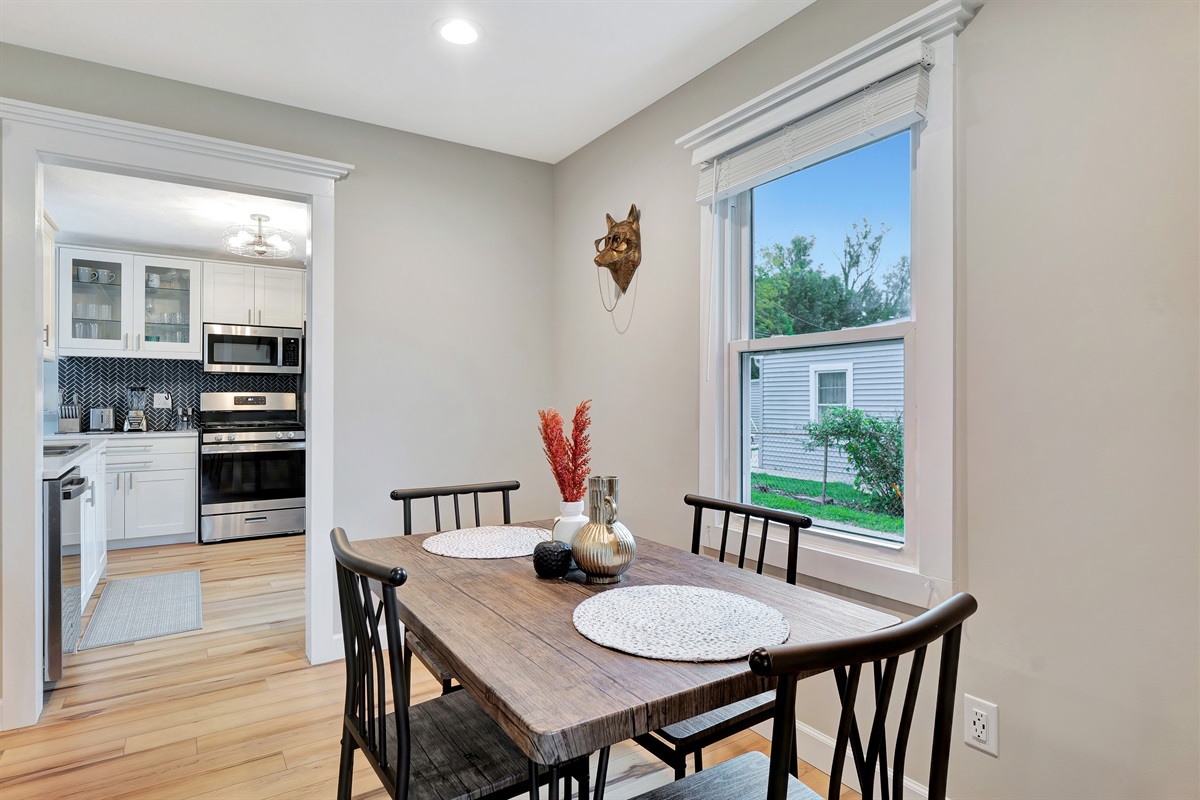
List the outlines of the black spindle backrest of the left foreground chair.
<svg viewBox="0 0 1200 800">
<path fill-rule="evenodd" d="M 408 795 L 410 740 L 396 587 L 408 579 L 408 573 L 360 554 L 341 528 L 335 528 L 329 537 L 337 561 L 337 597 L 346 645 L 344 722 L 358 734 L 359 747 L 388 796 L 404 798 Z M 371 591 L 371 582 L 379 584 L 378 599 Z M 380 618 L 386 631 L 388 672 L 384 670 L 384 643 L 379 639 Z M 388 735 L 389 690 L 396 718 L 395 739 Z"/>
</svg>

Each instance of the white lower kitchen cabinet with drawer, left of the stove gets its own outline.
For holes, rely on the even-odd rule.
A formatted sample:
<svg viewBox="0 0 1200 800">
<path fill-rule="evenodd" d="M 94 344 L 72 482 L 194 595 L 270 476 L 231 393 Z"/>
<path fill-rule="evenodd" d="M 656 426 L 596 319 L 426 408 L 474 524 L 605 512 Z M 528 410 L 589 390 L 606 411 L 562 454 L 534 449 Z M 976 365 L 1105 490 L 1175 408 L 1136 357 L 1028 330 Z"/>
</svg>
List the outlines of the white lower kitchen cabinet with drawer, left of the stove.
<svg viewBox="0 0 1200 800">
<path fill-rule="evenodd" d="M 108 540 L 196 535 L 196 437 L 113 437 Z"/>
</svg>

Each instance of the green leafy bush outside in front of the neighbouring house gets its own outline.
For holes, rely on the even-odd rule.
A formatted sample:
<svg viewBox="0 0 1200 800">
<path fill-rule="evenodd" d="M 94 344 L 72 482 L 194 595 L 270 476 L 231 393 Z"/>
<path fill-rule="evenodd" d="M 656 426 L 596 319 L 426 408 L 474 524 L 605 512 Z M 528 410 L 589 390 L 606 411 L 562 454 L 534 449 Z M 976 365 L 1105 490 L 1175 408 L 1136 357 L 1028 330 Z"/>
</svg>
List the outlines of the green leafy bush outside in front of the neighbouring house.
<svg viewBox="0 0 1200 800">
<path fill-rule="evenodd" d="M 854 473 L 854 488 L 871 498 L 871 511 L 904 516 L 904 419 L 878 417 L 857 408 L 827 408 L 821 419 L 809 422 L 805 447 L 841 447 Z M 826 501 L 822 479 L 821 500 Z"/>
</svg>

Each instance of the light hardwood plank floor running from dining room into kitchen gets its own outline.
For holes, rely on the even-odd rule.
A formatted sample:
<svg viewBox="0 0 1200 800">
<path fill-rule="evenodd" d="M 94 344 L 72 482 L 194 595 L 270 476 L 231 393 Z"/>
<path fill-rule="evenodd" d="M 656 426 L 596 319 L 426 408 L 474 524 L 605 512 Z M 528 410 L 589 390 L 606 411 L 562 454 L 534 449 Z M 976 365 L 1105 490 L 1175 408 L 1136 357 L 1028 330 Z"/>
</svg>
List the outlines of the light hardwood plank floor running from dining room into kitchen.
<svg viewBox="0 0 1200 800">
<path fill-rule="evenodd" d="M 332 798 L 344 673 L 341 662 L 305 658 L 304 546 L 293 536 L 110 552 L 109 578 L 198 569 L 204 628 L 66 656 L 41 721 L 0 734 L 0 798 Z M 419 703 L 440 685 L 413 664 Z M 768 742 L 746 732 L 706 750 L 704 763 L 750 750 Z M 383 798 L 364 759 L 355 763 L 354 796 Z M 800 768 L 823 794 L 826 776 Z M 670 781 L 625 742 L 613 747 L 605 796 Z"/>
</svg>

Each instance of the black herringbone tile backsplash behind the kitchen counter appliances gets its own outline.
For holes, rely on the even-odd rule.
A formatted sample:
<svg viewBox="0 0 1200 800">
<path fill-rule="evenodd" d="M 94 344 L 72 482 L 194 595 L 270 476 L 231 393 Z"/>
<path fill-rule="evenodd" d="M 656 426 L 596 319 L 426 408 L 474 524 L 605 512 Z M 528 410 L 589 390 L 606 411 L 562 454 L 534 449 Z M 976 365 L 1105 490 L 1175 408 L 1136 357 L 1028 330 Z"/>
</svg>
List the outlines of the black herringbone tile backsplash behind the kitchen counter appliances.
<svg viewBox="0 0 1200 800">
<path fill-rule="evenodd" d="M 204 372 L 199 361 L 174 359 L 59 359 L 59 391 L 71 399 L 78 392 L 84 409 L 112 408 L 120 429 L 128 410 L 126 390 L 146 387 L 146 405 L 154 404 L 154 392 L 168 392 L 172 408 L 146 408 L 151 431 L 175 426 L 175 409 L 191 405 L 198 409 L 200 392 L 295 392 L 300 375 L 244 375 L 224 372 Z M 84 413 L 84 427 L 88 414 Z"/>
</svg>

